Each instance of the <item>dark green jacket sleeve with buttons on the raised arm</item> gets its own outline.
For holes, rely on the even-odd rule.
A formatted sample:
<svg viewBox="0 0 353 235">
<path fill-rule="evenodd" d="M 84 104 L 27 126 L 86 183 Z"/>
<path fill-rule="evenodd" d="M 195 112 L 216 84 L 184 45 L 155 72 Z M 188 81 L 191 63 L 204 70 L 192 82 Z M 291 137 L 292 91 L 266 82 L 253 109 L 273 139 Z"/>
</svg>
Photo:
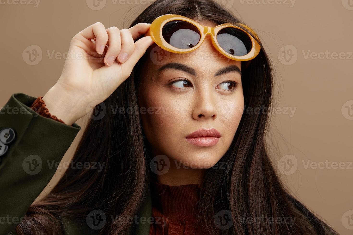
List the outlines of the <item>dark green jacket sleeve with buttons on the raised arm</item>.
<svg viewBox="0 0 353 235">
<path fill-rule="evenodd" d="M 81 129 L 39 115 L 36 100 L 12 94 L 0 111 L 0 234 L 20 223 Z"/>
</svg>

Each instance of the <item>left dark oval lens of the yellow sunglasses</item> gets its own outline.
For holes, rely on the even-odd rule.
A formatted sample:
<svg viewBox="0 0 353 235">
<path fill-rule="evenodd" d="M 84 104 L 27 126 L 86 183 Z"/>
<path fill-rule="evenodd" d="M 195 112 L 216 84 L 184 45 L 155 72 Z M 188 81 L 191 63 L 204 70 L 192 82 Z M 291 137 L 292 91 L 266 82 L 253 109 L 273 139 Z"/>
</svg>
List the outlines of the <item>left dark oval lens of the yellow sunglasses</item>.
<svg viewBox="0 0 353 235">
<path fill-rule="evenodd" d="M 173 20 L 162 28 L 162 36 L 167 43 L 179 49 L 195 47 L 200 41 L 197 27 L 183 20 Z"/>
</svg>

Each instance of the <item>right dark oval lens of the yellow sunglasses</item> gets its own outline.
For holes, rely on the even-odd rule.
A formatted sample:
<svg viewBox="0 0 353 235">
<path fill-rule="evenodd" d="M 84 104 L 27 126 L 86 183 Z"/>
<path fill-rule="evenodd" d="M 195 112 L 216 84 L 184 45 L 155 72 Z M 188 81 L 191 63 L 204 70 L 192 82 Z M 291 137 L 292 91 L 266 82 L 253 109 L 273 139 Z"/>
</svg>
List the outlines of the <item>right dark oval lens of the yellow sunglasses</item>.
<svg viewBox="0 0 353 235">
<path fill-rule="evenodd" d="M 234 56 L 243 56 L 250 52 L 252 43 L 250 37 L 242 30 L 232 27 L 221 29 L 217 33 L 220 47 Z"/>
</svg>

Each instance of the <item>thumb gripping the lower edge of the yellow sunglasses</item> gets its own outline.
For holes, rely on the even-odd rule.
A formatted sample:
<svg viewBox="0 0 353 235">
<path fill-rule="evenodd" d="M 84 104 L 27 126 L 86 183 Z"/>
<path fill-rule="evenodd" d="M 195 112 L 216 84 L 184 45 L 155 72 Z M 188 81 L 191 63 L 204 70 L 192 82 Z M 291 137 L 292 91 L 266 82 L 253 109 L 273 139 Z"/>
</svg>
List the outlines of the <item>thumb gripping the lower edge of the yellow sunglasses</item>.
<svg viewBox="0 0 353 235">
<path fill-rule="evenodd" d="M 130 75 L 133 67 L 136 65 L 138 60 L 145 54 L 147 48 L 152 45 L 154 41 L 152 40 L 151 36 L 146 36 L 138 39 L 135 43 L 135 49 L 132 52 L 131 56 L 128 58 L 128 60 L 121 64 L 123 74 L 126 73 L 127 76 Z M 127 78 L 127 76 L 125 76 Z M 124 79 L 126 79 L 124 78 Z"/>
</svg>

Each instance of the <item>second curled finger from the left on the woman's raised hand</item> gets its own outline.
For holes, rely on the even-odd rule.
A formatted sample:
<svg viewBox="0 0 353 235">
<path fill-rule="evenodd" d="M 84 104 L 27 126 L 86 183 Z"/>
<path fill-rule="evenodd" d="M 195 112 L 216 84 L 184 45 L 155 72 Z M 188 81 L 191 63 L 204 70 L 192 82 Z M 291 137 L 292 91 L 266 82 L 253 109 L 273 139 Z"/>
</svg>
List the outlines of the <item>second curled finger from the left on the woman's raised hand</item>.
<svg viewBox="0 0 353 235">
<path fill-rule="evenodd" d="M 107 34 L 108 50 L 106 56 L 104 57 L 104 63 L 107 66 L 111 66 L 121 50 L 120 30 L 117 27 L 113 26 L 107 29 Z"/>
</svg>

